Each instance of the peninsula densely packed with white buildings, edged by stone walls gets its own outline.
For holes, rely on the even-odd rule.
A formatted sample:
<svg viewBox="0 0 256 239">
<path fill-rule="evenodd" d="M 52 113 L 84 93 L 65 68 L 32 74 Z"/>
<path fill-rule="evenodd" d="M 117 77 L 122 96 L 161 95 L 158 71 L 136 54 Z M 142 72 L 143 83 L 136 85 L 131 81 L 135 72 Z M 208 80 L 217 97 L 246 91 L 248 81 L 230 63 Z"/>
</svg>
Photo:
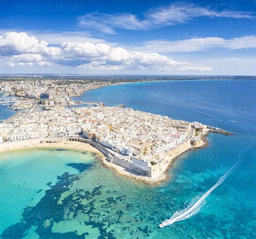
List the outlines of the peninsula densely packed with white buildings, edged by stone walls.
<svg viewBox="0 0 256 239">
<path fill-rule="evenodd" d="M 174 158 L 203 146 L 209 131 L 226 133 L 198 122 L 172 120 L 120 106 L 105 107 L 100 102 L 91 102 L 94 107 L 67 107 L 67 102 L 73 102 L 69 96 L 107 82 L 82 87 L 84 84 L 59 86 L 50 81 L 25 87 L 27 82 L 19 81 L 23 88 L 10 86 L 16 83 L 1 82 L 2 93 L 34 102 L 0 124 L 0 151 L 47 146 L 93 151 L 93 147 L 104 165 L 118 173 L 158 182 L 166 179 L 164 172 Z"/>
</svg>

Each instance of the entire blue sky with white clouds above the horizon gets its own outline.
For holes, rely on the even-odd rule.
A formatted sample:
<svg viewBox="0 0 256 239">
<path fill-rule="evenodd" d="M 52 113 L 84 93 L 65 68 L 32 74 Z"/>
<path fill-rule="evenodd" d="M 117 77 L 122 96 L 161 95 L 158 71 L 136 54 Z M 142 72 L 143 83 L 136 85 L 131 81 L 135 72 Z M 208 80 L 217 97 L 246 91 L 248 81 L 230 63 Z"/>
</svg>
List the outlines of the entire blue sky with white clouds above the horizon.
<svg viewBox="0 0 256 239">
<path fill-rule="evenodd" d="M 254 0 L 0 4 L 0 73 L 256 75 Z"/>
</svg>

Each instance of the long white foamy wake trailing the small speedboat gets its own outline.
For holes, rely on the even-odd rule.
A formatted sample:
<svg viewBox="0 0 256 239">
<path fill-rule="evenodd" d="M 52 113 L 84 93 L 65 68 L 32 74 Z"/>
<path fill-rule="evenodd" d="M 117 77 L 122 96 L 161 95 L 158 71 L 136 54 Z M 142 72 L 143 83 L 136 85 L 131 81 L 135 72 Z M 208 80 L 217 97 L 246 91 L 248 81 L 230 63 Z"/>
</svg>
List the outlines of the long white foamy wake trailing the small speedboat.
<svg viewBox="0 0 256 239">
<path fill-rule="evenodd" d="M 235 163 L 235 165 L 233 167 L 231 167 L 230 170 L 228 170 L 223 176 L 221 176 L 220 179 L 216 182 L 216 184 L 214 184 L 199 199 L 193 199 L 192 202 L 190 203 L 190 205 L 188 205 L 188 207 L 186 207 L 183 210 L 178 210 L 176 213 L 174 213 L 172 215 L 172 217 L 170 219 L 167 219 L 164 222 L 162 222 L 161 224 L 159 224 L 159 227 L 163 228 L 163 227 L 169 226 L 169 225 L 173 224 L 174 222 L 188 219 L 188 217 L 191 217 L 191 216 L 197 214 L 199 212 L 199 210 L 201 209 L 201 207 L 204 206 L 205 199 L 207 198 L 207 196 L 210 195 L 214 191 L 214 189 L 216 189 L 219 185 L 221 185 L 224 182 L 224 180 L 228 177 L 228 175 L 230 175 L 235 170 L 235 168 L 238 166 L 239 163 L 240 163 L 240 160 L 238 160 L 238 162 Z"/>
</svg>

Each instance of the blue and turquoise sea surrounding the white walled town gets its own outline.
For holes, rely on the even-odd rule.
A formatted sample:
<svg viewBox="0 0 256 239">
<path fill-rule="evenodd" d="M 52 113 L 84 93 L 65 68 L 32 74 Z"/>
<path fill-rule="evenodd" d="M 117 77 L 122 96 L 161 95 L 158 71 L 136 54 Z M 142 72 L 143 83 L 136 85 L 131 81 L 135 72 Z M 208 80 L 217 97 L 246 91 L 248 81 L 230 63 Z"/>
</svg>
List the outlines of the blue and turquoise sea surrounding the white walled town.
<svg viewBox="0 0 256 239">
<path fill-rule="evenodd" d="M 85 93 L 84 100 L 199 121 L 234 135 L 209 135 L 209 146 L 183 154 L 170 180 L 158 186 L 119 177 L 89 152 L 1 153 L 1 237 L 255 238 L 255 92 L 256 81 L 226 80 L 129 83 Z M 182 220 L 159 227 L 197 201 Z"/>
</svg>

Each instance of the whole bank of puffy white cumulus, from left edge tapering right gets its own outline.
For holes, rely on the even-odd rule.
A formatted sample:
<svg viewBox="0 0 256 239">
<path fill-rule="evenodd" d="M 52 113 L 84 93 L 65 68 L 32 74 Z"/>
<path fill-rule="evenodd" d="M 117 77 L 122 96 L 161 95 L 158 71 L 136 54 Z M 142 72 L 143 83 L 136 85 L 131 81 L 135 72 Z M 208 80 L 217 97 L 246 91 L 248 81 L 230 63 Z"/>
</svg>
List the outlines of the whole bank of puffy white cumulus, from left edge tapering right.
<svg viewBox="0 0 256 239">
<path fill-rule="evenodd" d="M 0 36 L 2 58 L 9 66 L 51 66 L 54 64 L 90 69 L 151 69 L 154 71 L 211 71 L 208 66 L 174 61 L 158 53 L 127 51 L 104 43 L 64 42 L 50 47 L 25 32 Z"/>
</svg>

